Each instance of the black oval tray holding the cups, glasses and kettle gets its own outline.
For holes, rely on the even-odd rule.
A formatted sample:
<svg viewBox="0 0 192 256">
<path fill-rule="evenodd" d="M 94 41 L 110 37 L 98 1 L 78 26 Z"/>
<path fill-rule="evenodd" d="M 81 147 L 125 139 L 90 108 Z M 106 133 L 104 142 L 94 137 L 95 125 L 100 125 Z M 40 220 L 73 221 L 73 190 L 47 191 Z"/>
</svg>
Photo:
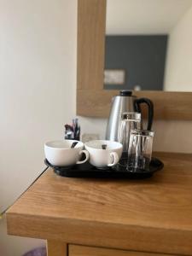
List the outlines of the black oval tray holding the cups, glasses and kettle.
<svg viewBox="0 0 192 256">
<path fill-rule="evenodd" d="M 89 162 L 85 162 L 81 165 L 61 167 L 52 166 L 48 160 L 44 160 L 47 166 L 54 169 L 54 172 L 63 177 L 109 177 L 109 178 L 146 178 L 151 177 L 154 172 L 160 171 L 164 164 L 157 158 L 152 158 L 150 162 L 149 170 L 132 170 L 132 172 L 126 170 L 125 159 L 121 159 L 119 164 L 106 169 L 98 169 L 95 166 L 91 166 Z"/>
</svg>

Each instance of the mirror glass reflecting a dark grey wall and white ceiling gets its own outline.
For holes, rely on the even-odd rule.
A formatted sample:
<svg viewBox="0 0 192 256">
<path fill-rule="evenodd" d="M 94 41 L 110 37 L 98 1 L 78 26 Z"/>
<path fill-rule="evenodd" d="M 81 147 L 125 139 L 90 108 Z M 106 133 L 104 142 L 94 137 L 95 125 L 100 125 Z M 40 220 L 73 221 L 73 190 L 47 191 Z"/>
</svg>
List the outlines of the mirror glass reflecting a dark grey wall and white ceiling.
<svg viewBox="0 0 192 256">
<path fill-rule="evenodd" d="M 108 0 L 104 89 L 192 91 L 192 0 Z"/>
</svg>

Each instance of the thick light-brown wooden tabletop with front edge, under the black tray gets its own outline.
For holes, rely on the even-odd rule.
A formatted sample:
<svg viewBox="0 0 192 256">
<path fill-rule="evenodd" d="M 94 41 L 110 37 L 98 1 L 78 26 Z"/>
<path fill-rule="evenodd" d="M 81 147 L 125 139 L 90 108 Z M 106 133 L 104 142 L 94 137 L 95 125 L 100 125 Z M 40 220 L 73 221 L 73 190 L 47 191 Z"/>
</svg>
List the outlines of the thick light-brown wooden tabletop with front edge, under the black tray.
<svg viewBox="0 0 192 256">
<path fill-rule="evenodd" d="M 158 153 L 144 180 L 59 177 L 48 169 L 7 212 L 8 233 L 192 255 L 192 154 Z"/>
</svg>

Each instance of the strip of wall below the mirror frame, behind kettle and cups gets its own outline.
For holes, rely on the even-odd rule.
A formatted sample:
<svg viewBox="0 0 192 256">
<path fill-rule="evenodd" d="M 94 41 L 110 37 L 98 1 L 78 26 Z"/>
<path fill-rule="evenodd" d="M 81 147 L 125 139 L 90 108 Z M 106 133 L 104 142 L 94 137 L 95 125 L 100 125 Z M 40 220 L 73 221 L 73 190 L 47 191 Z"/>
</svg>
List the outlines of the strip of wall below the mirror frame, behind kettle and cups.
<svg viewBox="0 0 192 256">
<path fill-rule="evenodd" d="M 155 108 L 155 106 L 154 106 Z M 82 131 L 98 133 L 105 137 L 107 119 L 80 117 Z M 156 120 L 154 130 L 154 151 L 192 153 L 192 121 Z"/>
</svg>

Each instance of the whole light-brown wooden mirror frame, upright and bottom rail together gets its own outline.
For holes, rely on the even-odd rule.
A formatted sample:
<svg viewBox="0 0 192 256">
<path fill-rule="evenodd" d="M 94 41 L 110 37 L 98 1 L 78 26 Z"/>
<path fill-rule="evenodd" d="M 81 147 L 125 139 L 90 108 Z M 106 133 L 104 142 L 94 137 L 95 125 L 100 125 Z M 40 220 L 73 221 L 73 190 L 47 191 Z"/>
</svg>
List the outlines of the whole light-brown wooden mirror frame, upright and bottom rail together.
<svg viewBox="0 0 192 256">
<path fill-rule="evenodd" d="M 77 114 L 108 117 L 118 90 L 103 89 L 106 0 L 78 0 Z M 154 102 L 155 119 L 192 120 L 192 92 L 134 92 Z"/>
</svg>

